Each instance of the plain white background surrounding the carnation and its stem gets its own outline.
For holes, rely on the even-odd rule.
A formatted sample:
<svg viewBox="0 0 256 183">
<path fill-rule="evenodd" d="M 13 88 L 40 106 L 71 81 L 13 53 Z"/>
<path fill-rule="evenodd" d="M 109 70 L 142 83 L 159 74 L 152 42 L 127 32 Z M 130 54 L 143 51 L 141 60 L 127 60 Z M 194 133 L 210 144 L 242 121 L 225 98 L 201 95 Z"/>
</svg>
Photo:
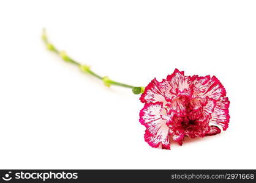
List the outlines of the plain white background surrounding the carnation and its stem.
<svg viewBox="0 0 256 183">
<path fill-rule="evenodd" d="M 256 1 L 1 1 L 0 168 L 256 168 Z M 215 75 L 230 126 L 171 150 L 144 142 L 143 104 L 102 76 L 145 86 L 175 68 Z"/>
</svg>

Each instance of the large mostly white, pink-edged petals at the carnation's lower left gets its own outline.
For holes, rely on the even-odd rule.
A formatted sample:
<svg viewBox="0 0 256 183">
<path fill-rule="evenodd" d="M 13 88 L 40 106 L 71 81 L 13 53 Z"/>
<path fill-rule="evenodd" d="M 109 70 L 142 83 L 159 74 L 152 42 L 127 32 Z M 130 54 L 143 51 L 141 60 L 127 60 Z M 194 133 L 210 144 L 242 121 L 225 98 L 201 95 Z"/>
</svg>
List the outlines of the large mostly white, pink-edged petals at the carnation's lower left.
<svg viewBox="0 0 256 183">
<path fill-rule="evenodd" d="M 145 141 L 154 148 L 170 149 L 169 127 L 162 117 L 162 102 L 146 103 L 140 111 L 140 123 L 146 126 Z"/>
</svg>

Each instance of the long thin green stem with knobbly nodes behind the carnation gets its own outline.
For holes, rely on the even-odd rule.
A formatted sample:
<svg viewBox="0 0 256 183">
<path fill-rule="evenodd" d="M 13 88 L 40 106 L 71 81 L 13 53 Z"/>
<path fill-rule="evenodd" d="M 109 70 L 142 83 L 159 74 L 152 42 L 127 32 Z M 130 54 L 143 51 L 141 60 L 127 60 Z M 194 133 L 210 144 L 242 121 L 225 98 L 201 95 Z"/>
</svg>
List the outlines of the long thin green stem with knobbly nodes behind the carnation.
<svg viewBox="0 0 256 183">
<path fill-rule="evenodd" d="M 104 77 L 99 76 L 98 74 L 94 73 L 88 65 L 83 65 L 83 64 L 71 59 L 69 56 L 67 56 L 66 52 L 59 51 L 58 49 L 55 48 L 55 46 L 53 44 L 51 44 L 48 41 L 48 37 L 47 37 L 45 29 L 43 29 L 42 40 L 50 51 L 53 51 L 56 54 L 58 54 L 64 61 L 78 65 L 83 72 L 91 74 L 92 76 L 97 77 L 98 79 L 102 80 L 107 87 L 110 87 L 110 85 L 116 85 L 119 87 L 132 88 L 132 92 L 134 94 L 143 93 L 145 90 L 145 87 L 134 87 L 132 85 L 127 85 L 127 84 L 123 84 L 121 82 L 113 81 L 107 76 L 104 76 Z"/>
</svg>

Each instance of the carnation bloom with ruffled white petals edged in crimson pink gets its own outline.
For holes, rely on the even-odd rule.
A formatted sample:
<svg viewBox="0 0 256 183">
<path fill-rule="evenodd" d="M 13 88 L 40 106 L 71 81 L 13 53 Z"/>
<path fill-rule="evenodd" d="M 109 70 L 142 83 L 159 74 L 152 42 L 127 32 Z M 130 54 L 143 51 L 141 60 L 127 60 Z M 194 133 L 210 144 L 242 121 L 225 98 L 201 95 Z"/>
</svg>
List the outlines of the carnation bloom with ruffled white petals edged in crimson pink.
<svg viewBox="0 0 256 183">
<path fill-rule="evenodd" d="M 162 82 L 153 79 L 140 97 L 145 106 L 140 123 L 146 127 L 145 141 L 154 148 L 182 145 L 184 137 L 219 134 L 228 127 L 230 102 L 215 76 L 184 76 L 175 70 Z"/>
</svg>

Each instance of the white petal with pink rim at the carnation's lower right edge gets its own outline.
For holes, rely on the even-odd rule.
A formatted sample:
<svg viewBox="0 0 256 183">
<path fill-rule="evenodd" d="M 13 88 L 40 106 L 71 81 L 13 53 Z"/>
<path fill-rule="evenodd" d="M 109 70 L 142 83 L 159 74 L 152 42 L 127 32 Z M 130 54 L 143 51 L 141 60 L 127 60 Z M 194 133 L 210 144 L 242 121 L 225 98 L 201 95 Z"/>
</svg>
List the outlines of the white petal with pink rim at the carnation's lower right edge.
<svg viewBox="0 0 256 183">
<path fill-rule="evenodd" d="M 228 127 L 229 119 L 230 115 L 228 114 L 228 109 L 222 109 L 219 106 L 216 106 L 214 112 L 211 113 L 209 126 L 217 126 L 225 131 Z"/>
</svg>

